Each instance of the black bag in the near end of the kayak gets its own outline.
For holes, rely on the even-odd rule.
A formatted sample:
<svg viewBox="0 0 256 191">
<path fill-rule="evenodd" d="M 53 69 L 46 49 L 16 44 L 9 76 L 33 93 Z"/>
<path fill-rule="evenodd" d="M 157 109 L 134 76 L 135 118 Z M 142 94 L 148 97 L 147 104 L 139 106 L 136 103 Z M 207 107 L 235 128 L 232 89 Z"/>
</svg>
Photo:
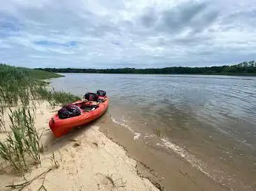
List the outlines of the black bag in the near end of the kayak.
<svg viewBox="0 0 256 191">
<path fill-rule="evenodd" d="M 67 119 L 70 117 L 81 115 L 81 110 L 78 106 L 68 104 L 66 106 L 63 106 L 60 110 L 58 110 L 58 115 L 60 119 Z"/>
</svg>

